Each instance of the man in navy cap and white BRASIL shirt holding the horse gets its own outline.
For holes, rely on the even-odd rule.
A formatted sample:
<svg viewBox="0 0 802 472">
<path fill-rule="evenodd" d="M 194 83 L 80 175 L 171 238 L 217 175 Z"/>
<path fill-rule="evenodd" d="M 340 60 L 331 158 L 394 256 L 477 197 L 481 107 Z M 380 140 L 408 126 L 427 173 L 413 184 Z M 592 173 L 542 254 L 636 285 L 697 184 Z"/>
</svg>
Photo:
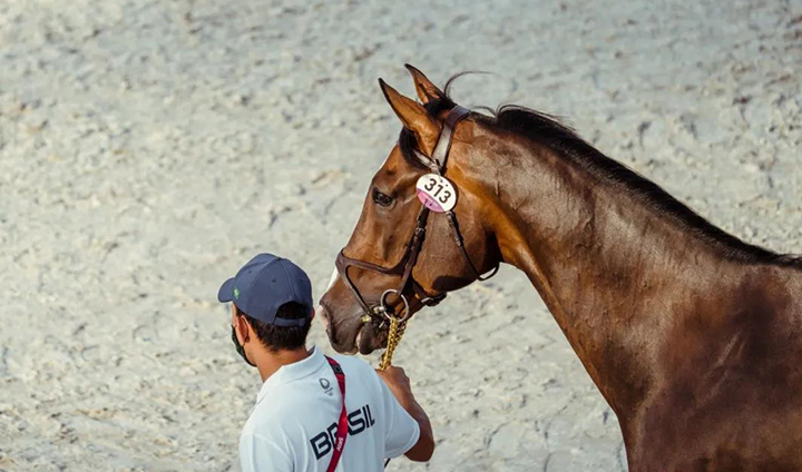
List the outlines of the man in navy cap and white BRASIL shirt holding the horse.
<svg viewBox="0 0 802 472">
<path fill-rule="evenodd" d="M 401 454 L 431 458 L 431 424 L 403 370 L 376 374 L 356 357 L 306 348 L 312 284 L 295 264 L 260 254 L 217 298 L 232 302 L 234 346 L 264 382 L 239 437 L 243 472 L 381 471 L 385 459 Z"/>
</svg>

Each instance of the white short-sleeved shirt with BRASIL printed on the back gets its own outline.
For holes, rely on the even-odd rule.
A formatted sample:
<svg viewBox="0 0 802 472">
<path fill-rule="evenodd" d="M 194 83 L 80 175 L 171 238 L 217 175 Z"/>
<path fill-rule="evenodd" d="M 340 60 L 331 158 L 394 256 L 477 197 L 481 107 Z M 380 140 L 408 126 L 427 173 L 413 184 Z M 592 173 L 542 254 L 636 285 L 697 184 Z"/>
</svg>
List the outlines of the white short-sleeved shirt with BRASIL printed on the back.
<svg viewBox="0 0 802 472">
<path fill-rule="evenodd" d="M 409 451 L 418 422 L 364 361 L 333 356 L 345 373 L 349 435 L 338 472 L 380 472 L 384 459 Z M 239 437 L 243 472 L 325 472 L 331 462 L 342 396 L 320 350 L 285 365 L 262 385 Z"/>
</svg>

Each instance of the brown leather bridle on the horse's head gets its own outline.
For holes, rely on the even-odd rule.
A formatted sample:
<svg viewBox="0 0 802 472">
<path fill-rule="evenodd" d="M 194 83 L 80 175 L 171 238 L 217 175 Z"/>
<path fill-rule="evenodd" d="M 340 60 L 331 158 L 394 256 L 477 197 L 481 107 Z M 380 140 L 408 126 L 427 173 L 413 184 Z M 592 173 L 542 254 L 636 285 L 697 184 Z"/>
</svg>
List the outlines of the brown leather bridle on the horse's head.
<svg viewBox="0 0 802 472">
<path fill-rule="evenodd" d="M 446 117 L 446 122 L 443 124 L 443 129 L 440 132 L 440 137 L 438 139 L 437 146 L 434 146 L 434 151 L 432 153 L 431 158 L 427 157 L 418 151 L 415 151 L 415 157 L 424 165 L 427 166 L 432 173 L 436 173 L 440 176 L 443 176 L 446 174 L 446 164 L 448 161 L 449 151 L 451 150 L 451 141 L 453 140 L 453 132 L 457 124 L 459 124 L 462 119 L 464 119 L 470 114 L 470 110 L 467 108 L 462 108 L 460 106 L 456 106 L 449 114 L 448 117 Z M 426 228 L 427 223 L 429 220 L 429 214 L 431 210 L 427 208 L 424 205 L 421 204 L 421 209 L 418 213 L 418 218 L 415 220 L 415 228 L 412 233 L 412 237 L 407 243 L 407 247 L 404 249 L 403 256 L 401 257 L 401 260 L 399 260 L 398 264 L 395 264 L 392 267 L 382 267 L 376 264 L 366 263 L 364 260 L 360 259 L 353 259 L 351 257 L 345 256 L 344 250 L 340 250 L 340 254 L 338 254 L 336 257 L 336 269 L 340 274 L 340 277 L 345 282 L 345 285 L 351 289 L 351 293 L 354 295 L 356 301 L 359 302 L 360 306 L 364 311 L 365 315 L 372 317 L 372 316 L 397 316 L 394 313 L 392 313 L 392 309 L 387 304 L 387 297 L 391 294 L 395 294 L 401 302 L 404 305 L 404 313 L 403 316 L 397 316 L 401 322 L 405 322 L 407 318 L 410 315 L 410 306 L 409 302 L 407 301 L 407 297 L 403 295 L 403 293 L 407 291 L 408 286 L 411 286 L 412 292 L 420 298 L 421 304 L 424 306 L 434 306 L 438 303 L 442 302 L 443 298 L 446 298 L 447 293 L 440 293 L 437 295 L 430 295 L 427 293 L 427 291 L 421 287 L 421 285 L 412 277 L 412 271 L 414 269 L 415 264 L 418 263 L 418 256 L 420 255 L 420 252 L 423 247 L 423 239 L 426 238 Z M 449 222 L 449 227 L 451 227 L 451 233 L 453 234 L 454 244 L 457 247 L 460 248 L 460 253 L 462 254 L 462 257 L 468 263 L 468 267 L 473 272 L 473 275 L 476 279 L 478 281 L 487 281 L 488 278 L 496 275 L 496 273 L 499 269 L 499 266 L 497 265 L 492 272 L 487 275 L 482 276 L 477 267 L 473 265 L 473 263 L 470 259 L 470 256 L 468 255 L 468 252 L 464 248 L 464 240 L 462 239 L 462 234 L 459 229 L 459 223 L 457 222 L 457 216 L 454 215 L 453 210 L 446 212 L 446 216 Z M 362 297 L 362 294 L 360 294 L 360 291 L 356 288 L 356 285 L 354 285 L 353 281 L 348 275 L 349 267 L 354 266 L 359 267 L 365 271 L 372 271 L 376 272 L 379 274 L 384 275 L 400 275 L 401 276 L 401 284 L 398 288 L 389 288 L 384 291 L 384 293 L 379 298 L 379 305 L 370 306 L 368 305 L 368 302 Z"/>
</svg>

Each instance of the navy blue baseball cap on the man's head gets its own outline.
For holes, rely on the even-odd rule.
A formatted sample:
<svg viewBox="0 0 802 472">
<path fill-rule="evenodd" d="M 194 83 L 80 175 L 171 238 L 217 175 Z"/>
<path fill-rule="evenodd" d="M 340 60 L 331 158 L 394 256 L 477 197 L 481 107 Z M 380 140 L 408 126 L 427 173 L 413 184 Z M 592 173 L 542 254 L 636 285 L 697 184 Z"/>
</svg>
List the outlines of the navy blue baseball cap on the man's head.
<svg viewBox="0 0 802 472">
<path fill-rule="evenodd" d="M 217 299 L 234 302 L 241 311 L 261 322 L 275 326 L 305 326 L 312 319 L 312 283 L 305 272 L 291 260 L 260 254 L 237 275 L 225 281 Z M 305 318 L 281 318 L 278 307 L 295 302 L 306 307 Z"/>
</svg>

